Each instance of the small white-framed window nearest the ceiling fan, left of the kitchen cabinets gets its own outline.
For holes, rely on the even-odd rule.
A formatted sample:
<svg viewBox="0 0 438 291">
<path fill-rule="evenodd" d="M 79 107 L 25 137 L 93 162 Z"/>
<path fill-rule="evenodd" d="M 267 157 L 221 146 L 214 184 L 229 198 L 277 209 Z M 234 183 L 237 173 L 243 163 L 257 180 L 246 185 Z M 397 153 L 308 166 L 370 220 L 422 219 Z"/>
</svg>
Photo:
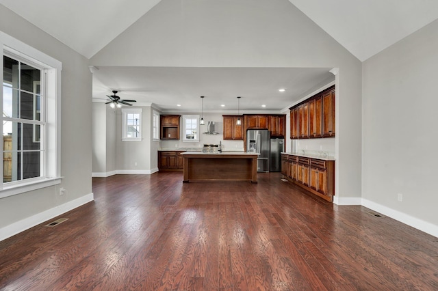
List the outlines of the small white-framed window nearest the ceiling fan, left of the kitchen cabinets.
<svg viewBox="0 0 438 291">
<path fill-rule="evenodd" d="M 142 140 L 142 112 L 141 108 L 123 108 L 123 141 Z"/>
</svg>

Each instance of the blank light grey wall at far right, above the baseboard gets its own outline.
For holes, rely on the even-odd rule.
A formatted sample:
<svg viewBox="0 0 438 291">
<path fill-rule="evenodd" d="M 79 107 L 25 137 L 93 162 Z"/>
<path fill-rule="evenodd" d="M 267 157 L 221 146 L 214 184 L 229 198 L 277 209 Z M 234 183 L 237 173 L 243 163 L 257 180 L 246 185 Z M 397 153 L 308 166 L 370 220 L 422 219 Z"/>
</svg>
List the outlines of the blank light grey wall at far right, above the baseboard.
<svg viewBox="0 0 438 291">
<path fill-rule="evenodd" d="M 362 151 L 365 203 L 435 236 L 437 52 L 436 20 L 363 62 Z"/>
</svg>

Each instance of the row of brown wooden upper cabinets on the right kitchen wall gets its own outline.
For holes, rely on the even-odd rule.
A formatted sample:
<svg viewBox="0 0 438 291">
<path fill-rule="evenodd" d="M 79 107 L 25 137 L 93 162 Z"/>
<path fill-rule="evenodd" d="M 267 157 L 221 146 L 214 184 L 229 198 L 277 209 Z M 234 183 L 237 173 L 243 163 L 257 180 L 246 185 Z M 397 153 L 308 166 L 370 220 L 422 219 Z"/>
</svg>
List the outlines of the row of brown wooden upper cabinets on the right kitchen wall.
<svg viewBox="0 0 438 291">
<path fill-rule="evenodd" d="M 335 137 L 335 86 L 290 109 L 290 138 Z"/>
</svg>

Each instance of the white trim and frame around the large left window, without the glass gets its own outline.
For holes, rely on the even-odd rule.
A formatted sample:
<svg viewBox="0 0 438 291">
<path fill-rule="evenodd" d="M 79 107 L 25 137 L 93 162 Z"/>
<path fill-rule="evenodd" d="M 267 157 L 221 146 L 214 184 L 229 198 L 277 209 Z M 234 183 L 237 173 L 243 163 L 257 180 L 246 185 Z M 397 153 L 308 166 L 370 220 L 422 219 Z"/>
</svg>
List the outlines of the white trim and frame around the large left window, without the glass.
<svg viewBox="0 0 438 291">
<path fill-rule="evenodd" d="M 46 120 L 47 128 L 42 135 L 47 138 L 44 148 L 44 172 L 41 177 L 30 178 L 15 182 L 0 183 L 0 198 L 16 194 L 46 188 L 61 182 L 61 72 L 62 63 L 49 55 L 38 51 L 24 42 L 16 40 L 0 31 L 0 47 L 2 57 L 0 59 L 3 68 L 3 54 L 5 52 L 16 55 L 23 59 L 32 59 L 34 64 L 44 68 L 47 72 L 46 94 Z M 3 70 L 0 70 L 0 79 L 3 80 Z M 0 90 L 0 100 L 3 100 L 3 89 Z M 0 102 L 0 110 L 3 112 L 3 102 Z M 47 114 L 51 112 L 51 114 Z M 3 152 L 3 143 L 0 143 Z M 0 168 L 0 176 L 3 177 L 3 167 Z"/>
</svg>

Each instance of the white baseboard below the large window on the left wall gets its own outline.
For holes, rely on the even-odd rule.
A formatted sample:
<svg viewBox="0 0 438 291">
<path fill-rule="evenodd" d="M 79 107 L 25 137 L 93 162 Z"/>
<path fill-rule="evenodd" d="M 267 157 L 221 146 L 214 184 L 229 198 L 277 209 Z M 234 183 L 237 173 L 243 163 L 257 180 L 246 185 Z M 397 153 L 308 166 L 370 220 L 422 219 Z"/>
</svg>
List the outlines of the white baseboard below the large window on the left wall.
<svg viewBox="0 0 438 291">
<path fill-rule="evenodd" d="M 45 210 L 43 212 L 35 214 L 31 217 L 22 219 L 21 221 L 17 221 L 16 223 L 12 223 L 10 225 L 2 227 L 0 228 L 0 241 L 4 240 L 5 238 L 10 238 L 15 234 L 28 230 L 29 228 L 34 227 L 35 225 L 43 223 L 44 221 L 48 221 L 49 219 L 53 219 L 53 217 L 57 217 L 65 212 L 73 210 L 93 200 L 94 200 L 94 195 L 93 193 L 90 193 L 82 197 L 79 197 L 75 200 L 53 207 L 49 210 Z"/>
</svg>

